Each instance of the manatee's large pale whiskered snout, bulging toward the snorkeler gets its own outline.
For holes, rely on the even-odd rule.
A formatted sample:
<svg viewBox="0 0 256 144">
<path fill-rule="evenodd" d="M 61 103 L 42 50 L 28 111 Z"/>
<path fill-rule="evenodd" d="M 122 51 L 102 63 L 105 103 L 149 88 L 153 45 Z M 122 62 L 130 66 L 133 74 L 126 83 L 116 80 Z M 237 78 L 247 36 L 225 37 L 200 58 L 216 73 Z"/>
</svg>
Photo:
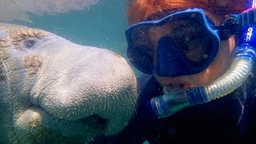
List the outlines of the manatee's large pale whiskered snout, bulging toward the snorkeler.
<svg viewBox="0 0 256 144">
<path fill-rule="evenodd" d="M 103 134 L 122 130 L 134 113 L 137 100 L 136 80 L 130 66 L 110 50 L 78 45 L 68 47 L 73 49 L 61 54 L 65 66 L 51 70 L 63 65 L 58 58 L 54 58 L 50 67 L 46 65 L 48 70 L 38 78 L 30 98 L 35 105 L 57 118 L 100 121 L 106 125 Z M 40 90 L 43 84 L 49 83 L 46 82 L 49 78 L 44 77 L 52 73 L 57 78 Z"/>
</svg>

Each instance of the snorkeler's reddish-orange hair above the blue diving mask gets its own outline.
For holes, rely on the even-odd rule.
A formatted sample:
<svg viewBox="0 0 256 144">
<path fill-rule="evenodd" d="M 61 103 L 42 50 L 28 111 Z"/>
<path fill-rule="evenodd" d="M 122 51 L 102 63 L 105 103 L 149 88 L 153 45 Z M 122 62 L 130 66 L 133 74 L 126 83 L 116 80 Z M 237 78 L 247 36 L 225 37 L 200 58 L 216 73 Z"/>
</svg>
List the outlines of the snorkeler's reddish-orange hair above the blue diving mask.
<svg viewBox="0 0 256 144">
<path fill-rule="evenodd" d="M 154 13 L 188 8 L 201 8 L 224 18 L 226 14 L 241 13 L 244 6 L 245 0 L 130 0 L 128 22 L 132 25 L 145 21 Z"/>
</svg>

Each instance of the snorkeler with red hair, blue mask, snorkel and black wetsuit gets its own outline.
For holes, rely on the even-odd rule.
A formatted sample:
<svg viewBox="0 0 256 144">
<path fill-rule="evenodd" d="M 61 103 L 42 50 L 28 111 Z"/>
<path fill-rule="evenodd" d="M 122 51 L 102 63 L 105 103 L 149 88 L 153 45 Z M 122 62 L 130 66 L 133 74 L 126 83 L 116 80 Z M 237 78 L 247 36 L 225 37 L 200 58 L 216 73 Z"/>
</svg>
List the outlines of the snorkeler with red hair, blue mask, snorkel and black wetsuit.
<svg viewBox="0 0 256 144">
<path fill-rule="evenodd" d="M 256 143 L 253 6 L 130 1 L 127 56 L 143 73 L 138 108 L 109 142 Z"/>
</svg>

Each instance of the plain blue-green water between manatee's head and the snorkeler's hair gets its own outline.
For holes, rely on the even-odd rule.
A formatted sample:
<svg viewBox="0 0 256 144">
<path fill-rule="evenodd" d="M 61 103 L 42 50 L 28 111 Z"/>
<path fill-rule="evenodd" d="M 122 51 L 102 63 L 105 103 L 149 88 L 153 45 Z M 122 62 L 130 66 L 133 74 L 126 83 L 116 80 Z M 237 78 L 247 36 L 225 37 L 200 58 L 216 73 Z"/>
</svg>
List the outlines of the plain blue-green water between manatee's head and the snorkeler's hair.
<svg viewBox="0 0 256 144">
<path fill-rule="evenodd" d="M 126 55 L 126 1 L 101 0 L 80 11 L 29 16 L 34 23 L 18 20 L 13 23 L 47 30 L 81 45 L 103 47 Z"/>
</svg>

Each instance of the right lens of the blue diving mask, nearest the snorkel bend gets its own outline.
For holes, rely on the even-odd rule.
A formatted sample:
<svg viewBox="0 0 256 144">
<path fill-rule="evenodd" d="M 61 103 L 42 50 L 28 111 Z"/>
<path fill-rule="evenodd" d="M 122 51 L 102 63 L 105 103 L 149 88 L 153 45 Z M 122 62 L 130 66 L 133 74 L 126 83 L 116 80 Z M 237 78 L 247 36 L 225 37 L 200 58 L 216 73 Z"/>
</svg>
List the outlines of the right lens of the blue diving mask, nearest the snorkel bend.
<svg viewBox="0 0 256 144">
<path fill-rule="evenodd" d="M 212 39 L 195 19 L 177 20 L 170 37 L 175 47 L 194 66 L 202 66 L 212 50 Z"/>
</svg>

